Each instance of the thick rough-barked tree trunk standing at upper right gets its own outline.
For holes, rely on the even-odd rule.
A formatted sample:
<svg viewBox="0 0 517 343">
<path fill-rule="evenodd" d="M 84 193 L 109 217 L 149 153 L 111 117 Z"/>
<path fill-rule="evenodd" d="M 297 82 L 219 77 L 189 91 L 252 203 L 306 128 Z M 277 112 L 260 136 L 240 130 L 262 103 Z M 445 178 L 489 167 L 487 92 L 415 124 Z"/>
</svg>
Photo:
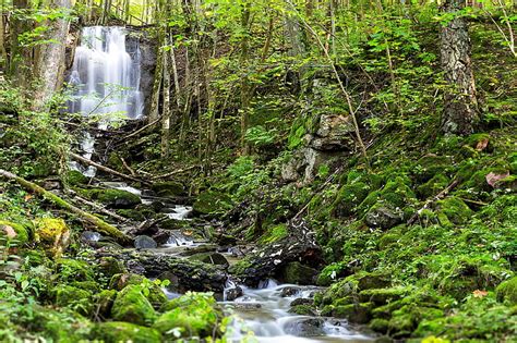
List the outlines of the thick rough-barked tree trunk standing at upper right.
<svg viewBox="0 0 517 343">
<path fill-rule="evenodd" d="M 458 14 L 464 7 L 464 0 L 446 0 L 442 7 L 443 12 L 456 14 L 441 32 L 442 68 L 449 85 L 441 123 L 445 134 L 471 134 L 478 121 L 468 23 Z"/>
</svg>

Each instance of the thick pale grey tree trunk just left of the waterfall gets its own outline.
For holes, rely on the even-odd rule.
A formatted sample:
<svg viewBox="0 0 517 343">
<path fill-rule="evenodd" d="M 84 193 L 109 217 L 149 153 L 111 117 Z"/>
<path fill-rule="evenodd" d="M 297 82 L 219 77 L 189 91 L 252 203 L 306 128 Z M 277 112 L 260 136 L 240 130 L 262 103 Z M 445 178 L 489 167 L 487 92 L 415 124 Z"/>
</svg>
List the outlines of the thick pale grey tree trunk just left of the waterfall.
<svg viewBox="0 0 517 343">
<path fill-rule="evenodd" d="M 70 0 L 52 0 L 50 9 L 64 11 L 72 7 Z M 61 87 L 65 70 L 65 41 L 69 33 L 70 21 L 67 17 L 44 22 L 49 27 L 50 41 L 38 46 L 37 60 L 34 71 L 35 81 L 38 83 L 34 93 L 32 109 L 45 110 L 46 105 L 53 94 Z"/>
</svg>

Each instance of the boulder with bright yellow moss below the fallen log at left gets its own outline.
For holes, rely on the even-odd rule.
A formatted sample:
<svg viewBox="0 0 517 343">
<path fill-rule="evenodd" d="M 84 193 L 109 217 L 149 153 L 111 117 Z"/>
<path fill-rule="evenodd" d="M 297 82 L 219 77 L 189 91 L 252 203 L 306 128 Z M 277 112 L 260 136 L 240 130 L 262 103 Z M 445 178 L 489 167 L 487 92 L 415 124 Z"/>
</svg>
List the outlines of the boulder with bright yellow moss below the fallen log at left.
<svg viewBox="0 0 517 343">
<path fill-rule="evenodd" d="M 70 229 L 60 218 L 39 218 L 34 221 L 35 241 L 52 256 L 61 256 L 70 244 Z"/>
</svg>

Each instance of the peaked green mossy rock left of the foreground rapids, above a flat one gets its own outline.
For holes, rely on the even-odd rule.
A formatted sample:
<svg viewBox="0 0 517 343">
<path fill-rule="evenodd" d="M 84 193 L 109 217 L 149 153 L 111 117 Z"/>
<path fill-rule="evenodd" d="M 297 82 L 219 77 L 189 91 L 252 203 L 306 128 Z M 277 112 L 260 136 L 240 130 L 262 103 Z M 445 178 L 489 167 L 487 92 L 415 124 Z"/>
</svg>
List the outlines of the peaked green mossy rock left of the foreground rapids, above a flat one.
<svg viewBox="0 0 517 343">
<path fill-rule="evenodd" d="M 111 308 L 115 320 L 148 326 L 156 319 L 156 313 L 139 285 L 130 284 L 117 294 Z"/>
</svg>

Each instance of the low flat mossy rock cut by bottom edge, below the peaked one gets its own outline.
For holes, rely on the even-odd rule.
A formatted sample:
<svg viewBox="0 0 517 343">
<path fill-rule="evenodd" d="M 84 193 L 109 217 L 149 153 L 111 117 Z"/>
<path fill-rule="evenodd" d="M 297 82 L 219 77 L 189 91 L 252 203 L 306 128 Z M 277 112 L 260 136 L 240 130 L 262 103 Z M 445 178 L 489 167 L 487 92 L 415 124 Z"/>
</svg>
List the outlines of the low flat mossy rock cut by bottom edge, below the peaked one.
<svg viewBox="0 0 517 343">
<path fill-rule="evenodd" d="M 105 343 L 160 343 L 161 334 L 152 328 L 136 326 L 130 322 L 108 321 L 97 323 L 92 330 L 91 338 Z"/>
</svg>

